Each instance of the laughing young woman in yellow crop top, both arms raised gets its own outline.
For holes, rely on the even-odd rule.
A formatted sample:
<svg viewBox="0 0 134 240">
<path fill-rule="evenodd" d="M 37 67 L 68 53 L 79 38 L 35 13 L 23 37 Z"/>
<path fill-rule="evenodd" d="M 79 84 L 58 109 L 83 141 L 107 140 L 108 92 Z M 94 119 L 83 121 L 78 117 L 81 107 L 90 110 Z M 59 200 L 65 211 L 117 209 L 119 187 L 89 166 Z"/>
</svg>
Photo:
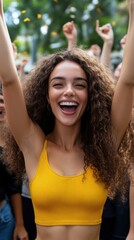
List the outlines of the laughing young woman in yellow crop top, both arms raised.
<svg viewBox="0 0 134 240">
<path fill-rule="evenodd" d="M 0 3 L 0 75 L 9 126 L 25 159 L 37 240 L 98 240 L 132 114 L 134 1 L 128 1 L 128 38 L 114 94 L 106 69 L 78 49 L 43 59 L 23 93 Z"/>
</svg>

